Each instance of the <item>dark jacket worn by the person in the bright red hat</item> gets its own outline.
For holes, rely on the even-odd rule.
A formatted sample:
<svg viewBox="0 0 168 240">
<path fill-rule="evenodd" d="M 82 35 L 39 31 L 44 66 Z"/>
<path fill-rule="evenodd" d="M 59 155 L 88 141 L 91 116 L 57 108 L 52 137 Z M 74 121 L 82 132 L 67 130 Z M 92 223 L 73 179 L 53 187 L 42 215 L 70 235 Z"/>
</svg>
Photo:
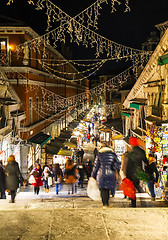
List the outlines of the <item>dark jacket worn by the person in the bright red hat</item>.
<svg viewBox="0 0 168 240">
<path fill-rule="evenodd" d="M 134 147 L 128 153 L 126 177 L 132 180 L 134 184 L 139 184 L 138 173 L 144 172 L 145 164 L 148 165 L 145 151 L 139 146 Z"/>
</svg>

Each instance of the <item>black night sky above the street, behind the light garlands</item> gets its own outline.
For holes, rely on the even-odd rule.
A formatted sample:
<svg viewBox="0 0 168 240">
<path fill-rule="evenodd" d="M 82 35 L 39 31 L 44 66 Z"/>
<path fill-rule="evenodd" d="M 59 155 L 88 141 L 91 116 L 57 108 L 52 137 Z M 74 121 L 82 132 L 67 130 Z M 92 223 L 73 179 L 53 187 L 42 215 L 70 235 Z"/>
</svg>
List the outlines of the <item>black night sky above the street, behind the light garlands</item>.
<svg viewBox="0 0 168 240">
<path fill-rule="evenodd" d="M 35 0 L 36 1 L 36 0 Z M 70 16 L 83 11 L 96 0 L 52 0 Z M 100 35 L 125 46 L 141 49 L 141 45 L 149 37 L 150 32 L 156 30 L 156 24 L 168 21 L 168 0 L 130 0 L 130 12 L 124 13 L 124 2 L 117 6 L 117 11 L 111 13 L 109 4 L 103 3 L 101 15 L 99 16 Z M 8 0 L 0 1 L 0 14 L 24 21 L 39 34 L 45 33 L 46 14 L 45 11 L 37 11 L 29 5 L 27 0 L 14 0 L 14 3 L 7 6 Z M 94 58 L 92 52 L 83 47 L 73 49 L 75 58 Z"/>
</svg>

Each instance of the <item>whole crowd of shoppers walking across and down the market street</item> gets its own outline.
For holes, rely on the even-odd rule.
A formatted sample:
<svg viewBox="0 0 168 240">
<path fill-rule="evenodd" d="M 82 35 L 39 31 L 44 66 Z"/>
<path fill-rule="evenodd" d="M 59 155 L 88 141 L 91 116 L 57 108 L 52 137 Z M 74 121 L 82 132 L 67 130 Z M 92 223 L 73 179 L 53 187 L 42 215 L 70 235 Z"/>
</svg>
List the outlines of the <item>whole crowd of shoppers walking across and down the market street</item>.
<svg viewBox="0 0 168 240">
<path fill-rule="evenodd" d="M 129 138 L 130 150 L 125 152 L 119 161 L 113 149 L 106 142 L 100 142 L 99 134 L 94 128 L 98 117 L 94 115 L 93 122 L 88 124 L 87 142 L 92 139 L 94 143 L 94 161 L 84 161 L 83 148 L 77 149 L 75 158 L 68 158 L 64 168 L 60 164 L 47 163 L 41 167 L 36 163 L 35 168 L 30 172 L 29 179 L 24 180 L 15 161 L 14 155 L 10 155 L 7 165 L 0 163 L 0 198 L 6 198 L 6 191 L 11 195 L 10 202 L 15 202 L 15 196 L 20 184 L 28 182 L 34 186 L 34 194 L 39 194 L 40 187 L 44 192 L 49 193 L 50 187 L 55 187 L 56 195 L 67 185 L 67 193 L 74 194 L 77 188 L 83 188 L 84 182 L 93 178 L 97 181 L 100 196 L 104 208 L 109 207 L 110 194 L 115 196 L 117 183 L 123 190 L 124 198 L 128 198 L 131 207 L 136 207 L 136 192 L 148 192 L 151 200 L 156 199 L 156 189 L 162 189 L 164 200 L 168 200 L 168 168 L 167 157 L 163 157 L 162 168 L 158 168 L 156 156 L 146 152 L 139 146 L 136 137 Z M 92 134 L 92 135 L 91 135 Z M 86 136 L 84 136 L 86 137 Z M 100 147 L 101 146 L 101 147 Z M 75 164 L 76 162 L 76 164 Z"/>
</svg>

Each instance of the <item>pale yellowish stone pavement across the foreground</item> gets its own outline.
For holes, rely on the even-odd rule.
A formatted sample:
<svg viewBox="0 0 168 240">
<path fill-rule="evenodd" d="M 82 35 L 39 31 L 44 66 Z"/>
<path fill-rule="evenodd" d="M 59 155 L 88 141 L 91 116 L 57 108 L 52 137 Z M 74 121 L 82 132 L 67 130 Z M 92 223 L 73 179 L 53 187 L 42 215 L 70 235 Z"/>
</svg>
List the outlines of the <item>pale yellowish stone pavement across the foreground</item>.
<svg viewBox="0 0 168 240">
<path fill-rule="evenodd" d="M 14 204 L 0 201 L 0 240 L 168 239 L 168 209 L 154 208 L 157 202 L 151 205 L 147 199 L 146 206 L 138 201 L 137 208 L 129 208 L 128 200 L 116 197 L 103 209 L 101 202 L 79 194 L 18 196 Z"/>
</svg>

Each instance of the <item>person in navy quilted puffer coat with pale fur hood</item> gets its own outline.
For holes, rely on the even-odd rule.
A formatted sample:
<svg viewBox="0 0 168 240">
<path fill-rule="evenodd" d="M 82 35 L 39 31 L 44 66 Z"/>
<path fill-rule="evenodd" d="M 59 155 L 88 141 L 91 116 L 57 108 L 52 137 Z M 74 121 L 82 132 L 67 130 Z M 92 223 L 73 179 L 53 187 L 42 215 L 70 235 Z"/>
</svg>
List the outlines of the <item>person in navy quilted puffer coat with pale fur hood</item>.
<svg viewBox="0 0 168 240">
<path fill-rule="evenodd" d="M 97 180 L 103 207 L 109 207 L 110 191 L 114 195 L 120 161 L 113 150 L 104 142 L 96 157 L 91 177 Z"/>
</svg>

